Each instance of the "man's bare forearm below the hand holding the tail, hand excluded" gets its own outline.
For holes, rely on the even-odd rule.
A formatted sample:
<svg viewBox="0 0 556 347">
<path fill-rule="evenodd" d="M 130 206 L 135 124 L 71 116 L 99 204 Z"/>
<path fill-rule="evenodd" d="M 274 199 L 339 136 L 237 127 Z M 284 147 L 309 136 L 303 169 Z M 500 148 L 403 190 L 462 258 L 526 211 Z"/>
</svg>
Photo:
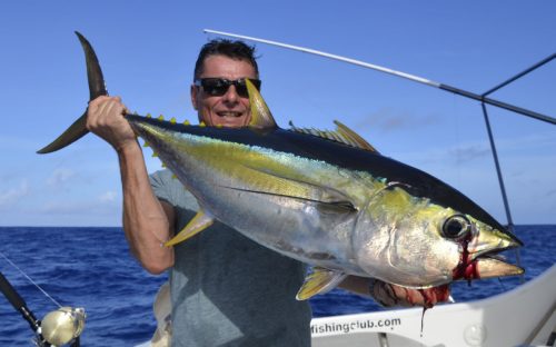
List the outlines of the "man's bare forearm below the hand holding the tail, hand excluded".
<svg viewBox="0 0 556 347">
<path fill-rule="evenodd" d="M 117 152 L 123 190 L 123 230 L 131 252 L 149 272 L 160 274 L 173 265 L 173 249 L 162 246 L 170 238 L 171 221 L 152 192 L 139 143 Z"/>
</svg>

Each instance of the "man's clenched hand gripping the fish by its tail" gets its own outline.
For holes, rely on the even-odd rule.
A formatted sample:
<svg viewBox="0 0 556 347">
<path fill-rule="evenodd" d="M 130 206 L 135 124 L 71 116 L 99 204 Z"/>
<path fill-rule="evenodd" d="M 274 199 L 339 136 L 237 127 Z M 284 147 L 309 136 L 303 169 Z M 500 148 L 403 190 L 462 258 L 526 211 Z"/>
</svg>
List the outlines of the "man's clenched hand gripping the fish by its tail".
<svg viewBox="0 0 556 347">
<path fill-rule="evenodd" d="M 137 146 L 137 137 L 123 118 L 128 112 L 120 97 L 101 96 L 89 102 L 87 129 L 110 143 L 116 151 Z"/>
</svg>

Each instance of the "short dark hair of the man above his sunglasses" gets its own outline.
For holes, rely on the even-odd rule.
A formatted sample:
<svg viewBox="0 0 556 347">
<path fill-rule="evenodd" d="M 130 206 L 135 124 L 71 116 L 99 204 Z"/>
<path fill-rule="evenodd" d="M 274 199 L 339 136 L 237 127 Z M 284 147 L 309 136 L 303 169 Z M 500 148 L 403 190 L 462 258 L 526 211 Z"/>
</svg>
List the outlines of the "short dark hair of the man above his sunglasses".
<svg viewBox="0 0 556 347">
<path fill-rule="evenodd" d="M 244 41 L 231 41 L 227 39 L 210 40 L 202 46 L 197 62 L 195 63 L 193 79 L 202 75 L 205 59 L 210 56 L 225 56 L 236 60 L 245 60 L 255 68 L 255 73 L 259 76 L 259 67 L 255 57 L 255 47 Z"/>
</svg>

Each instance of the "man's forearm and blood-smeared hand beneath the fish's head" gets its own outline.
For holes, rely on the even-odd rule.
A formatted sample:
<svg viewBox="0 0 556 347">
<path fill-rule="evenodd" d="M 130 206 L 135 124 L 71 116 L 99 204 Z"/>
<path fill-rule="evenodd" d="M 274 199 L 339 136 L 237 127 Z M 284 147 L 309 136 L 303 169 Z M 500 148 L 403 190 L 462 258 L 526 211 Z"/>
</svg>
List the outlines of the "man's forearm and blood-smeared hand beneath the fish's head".
<svg viewBox="0 0 556 347">
<path fill-rule="evenodd" d="M 437 303 L 448 300 L 449 288 L 427 288 L 427 289 L 410 289 L 396 285 L 390 285 L 374 278 L 348 276 L 339 285 L 340 288 L 347 289 L 355 294 L 371 297 L 378 304 L 385 307 L 391 306 L 426 306 L 431 307 Z"/>
</svg>

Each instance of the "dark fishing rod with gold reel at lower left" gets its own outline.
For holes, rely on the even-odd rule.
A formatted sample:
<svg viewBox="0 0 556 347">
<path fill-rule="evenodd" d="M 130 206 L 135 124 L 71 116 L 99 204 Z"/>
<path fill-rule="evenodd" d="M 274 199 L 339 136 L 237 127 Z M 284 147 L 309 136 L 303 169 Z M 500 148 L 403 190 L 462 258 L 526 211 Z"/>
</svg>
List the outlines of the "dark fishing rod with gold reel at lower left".
<svg viewBox="0 0 556 347">
<path fill-rule="evenodd" d="M 0 252 L 11 266 L 19 270 L 31 284 L 41 290 L 48 298 L 59 306 L 57 310 L 50 311 L 42 320 L 38 320 L 26 300 L 19 295 L 8 278 L 0 271 L 0 291 L 13 308 L 21 314 L 23 319 L 29 323 L 31 330 L 36 335 L 36 345 L 39 347 L 56 347 L 70 344 L 70 347 L 79 347 L 85 326 L 85 310 L 82 308 L 62 307 L 58 301 L 50 297 L 39 285 L 37 285 L 27 274 L 24 274 L 6 255 Z"/>
</svg>

